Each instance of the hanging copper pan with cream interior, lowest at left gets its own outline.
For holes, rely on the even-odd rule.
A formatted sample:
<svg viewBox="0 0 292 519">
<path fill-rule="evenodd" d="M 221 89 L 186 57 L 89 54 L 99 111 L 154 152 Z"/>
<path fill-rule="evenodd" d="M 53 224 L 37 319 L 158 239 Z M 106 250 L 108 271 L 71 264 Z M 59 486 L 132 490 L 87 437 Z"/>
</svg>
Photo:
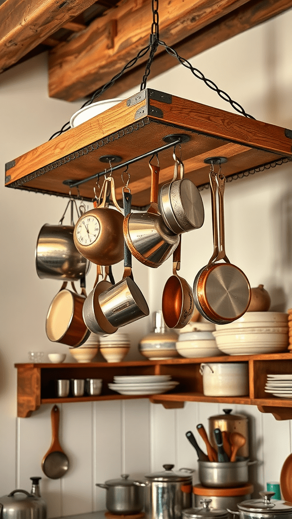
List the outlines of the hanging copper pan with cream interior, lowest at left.
<svg viewBox="0 0 292 519">
<path fill-rule="evenodd" d="M 72 282 L 72 289 L 66 288 L 67 281 L 52 300 L 46 319 L 46 334 L 55 343 L 67 344 L 77 348 L 88 339 L 88 330 L 82 316 L 86 299 L 85 278 L 81 281 L 81 294 L 78 294 Z"/>
</svg>

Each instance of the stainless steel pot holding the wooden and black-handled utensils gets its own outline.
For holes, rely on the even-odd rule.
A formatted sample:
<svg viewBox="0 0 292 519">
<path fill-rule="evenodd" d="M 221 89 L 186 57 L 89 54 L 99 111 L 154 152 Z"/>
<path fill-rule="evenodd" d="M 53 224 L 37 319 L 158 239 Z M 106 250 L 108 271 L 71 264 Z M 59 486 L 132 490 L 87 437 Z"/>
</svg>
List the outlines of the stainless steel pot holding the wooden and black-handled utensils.
<svg viewBox="0 0 292 519">
<path fill-rule="evenodd" d="M 257 461 L 200 461 L 198 479 L 206 487 L 236 487 L 248 482 L 248 467 Z"/>
</svg>

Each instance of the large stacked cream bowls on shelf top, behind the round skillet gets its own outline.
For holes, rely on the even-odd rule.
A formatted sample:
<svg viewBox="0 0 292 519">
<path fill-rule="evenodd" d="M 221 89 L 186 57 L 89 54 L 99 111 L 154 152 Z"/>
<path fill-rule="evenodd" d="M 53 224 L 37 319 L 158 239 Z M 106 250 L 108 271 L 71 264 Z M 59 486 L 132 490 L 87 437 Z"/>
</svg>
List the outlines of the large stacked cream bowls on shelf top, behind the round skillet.
<svg viewBox="0 0 292 519">
<path fill-rule="evenodd" d="M 280 353 L 288 348 L 288 314 L 246 312 L 232 323 L 216 324 L 214 335 L 228 355 Z"/>
</svg>

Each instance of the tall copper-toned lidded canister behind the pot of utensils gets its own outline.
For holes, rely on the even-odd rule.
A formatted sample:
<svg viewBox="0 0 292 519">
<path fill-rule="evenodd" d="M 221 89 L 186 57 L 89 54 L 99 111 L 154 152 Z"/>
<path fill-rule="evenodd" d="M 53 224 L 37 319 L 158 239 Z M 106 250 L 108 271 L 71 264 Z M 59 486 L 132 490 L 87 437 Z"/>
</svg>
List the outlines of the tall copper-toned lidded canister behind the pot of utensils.
<svg viewBox="0 0 292 519">
<path fill-rule="evenodd" d="M 209 438 L 210 443 L 217 449 L 217 444 L 214 436 L 214 429 L 220 429 L 220 431 L 240 432 L 246 439 L 245 445 L 240 447 L 237 451 L 237 456 L 243 456 L 244 458 L 249 457 L 249 446 L 248 446 L 248 418 L 245 415 L 232 415 L 232 409 L 223 409 L 221 415 L 210 416 L 209 421 Z"/>
</svg>

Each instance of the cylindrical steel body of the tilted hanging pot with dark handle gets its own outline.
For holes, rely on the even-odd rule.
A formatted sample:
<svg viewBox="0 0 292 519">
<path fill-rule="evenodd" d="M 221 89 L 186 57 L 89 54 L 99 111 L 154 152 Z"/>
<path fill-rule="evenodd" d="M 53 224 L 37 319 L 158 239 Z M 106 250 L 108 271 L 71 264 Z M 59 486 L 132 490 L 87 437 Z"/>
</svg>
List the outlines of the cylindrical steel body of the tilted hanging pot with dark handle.
<svg viewBox="0 0 292 519">
<path fill-rule="evenodd" d="M 99 304 L 108 321 L 116 327 L 125 326 L 149 315 L 144 296 L 129 276 L 100 294 Z"/>
</svg>

